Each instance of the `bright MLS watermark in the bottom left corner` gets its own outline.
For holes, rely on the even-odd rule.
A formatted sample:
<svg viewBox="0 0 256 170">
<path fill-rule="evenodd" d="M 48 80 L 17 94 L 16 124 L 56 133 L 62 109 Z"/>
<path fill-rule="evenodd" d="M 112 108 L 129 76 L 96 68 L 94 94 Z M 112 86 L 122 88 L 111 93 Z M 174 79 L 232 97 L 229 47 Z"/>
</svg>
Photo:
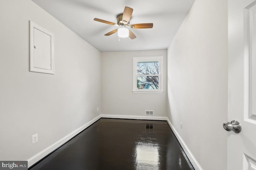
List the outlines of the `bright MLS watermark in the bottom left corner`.
<svg viewBox="0 0 256 170">
<path fill-rule="evenodd" d="M 28 170 L 28 161 L 0 161 L 0 170 Z"/>
</svg>

